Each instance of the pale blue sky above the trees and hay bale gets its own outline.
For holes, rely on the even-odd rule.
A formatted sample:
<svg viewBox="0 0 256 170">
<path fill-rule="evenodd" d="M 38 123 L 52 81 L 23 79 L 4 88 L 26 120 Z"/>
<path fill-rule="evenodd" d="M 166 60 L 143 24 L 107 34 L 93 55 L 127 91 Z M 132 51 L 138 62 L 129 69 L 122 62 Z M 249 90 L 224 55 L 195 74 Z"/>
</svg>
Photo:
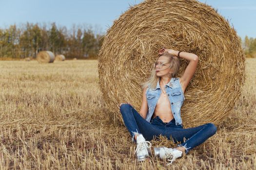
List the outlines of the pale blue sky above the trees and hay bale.
<svg viewBox="0 0 256 170">
<path fill-rule="evenodd" d="M 143 0 L 0 0 L 0 28 L 21 23 L 90 25 L 105 33 L 113 21 Z M 256 38 L 256 0 L 199 0 L 218 9 L 241 38 Z"/>
</svg>

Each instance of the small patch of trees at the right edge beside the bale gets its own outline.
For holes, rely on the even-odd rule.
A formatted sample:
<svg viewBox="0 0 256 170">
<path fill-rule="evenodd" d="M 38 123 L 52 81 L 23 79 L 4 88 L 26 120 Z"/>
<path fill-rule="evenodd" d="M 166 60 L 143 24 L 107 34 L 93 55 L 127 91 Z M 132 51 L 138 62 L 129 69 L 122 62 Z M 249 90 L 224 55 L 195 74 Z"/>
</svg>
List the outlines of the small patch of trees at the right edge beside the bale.
<svg viewBox="0 0 256 170">
<path fill-rule="evenodd" d="M 256 58 L 256 38 L 249 38 L 246 35 L 243 41 L 243 47 L 247 57 Z"/>
</svg>

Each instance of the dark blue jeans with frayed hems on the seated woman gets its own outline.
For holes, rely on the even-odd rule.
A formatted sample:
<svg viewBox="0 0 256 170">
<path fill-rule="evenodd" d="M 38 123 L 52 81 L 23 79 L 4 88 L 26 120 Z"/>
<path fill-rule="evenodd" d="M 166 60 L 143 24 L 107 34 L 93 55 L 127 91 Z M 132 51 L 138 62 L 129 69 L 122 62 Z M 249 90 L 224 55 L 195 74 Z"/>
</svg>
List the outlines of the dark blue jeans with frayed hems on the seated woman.
<svg viewBox="0 0 256 170">
<path fill-rule="evenodd" d="M 213 123 L 183 129 L 182 125 L 175 125 L 175 119 L 164 123 L 158 116 L 151 119 L 149 123 L 130 104 L 122 104 L 120 112 L 133 141 L 137 133 L 142 134 L 146 140 L 152 140 L 154 136 L 158 138 L 162 135 L 169 140 L 173 139 L 175 143 L 180 142 L 181 144 L 178 146 L 184 147 L 186 153 L 213 136 L 217 131 L 217 127 Z"/>
</svg>

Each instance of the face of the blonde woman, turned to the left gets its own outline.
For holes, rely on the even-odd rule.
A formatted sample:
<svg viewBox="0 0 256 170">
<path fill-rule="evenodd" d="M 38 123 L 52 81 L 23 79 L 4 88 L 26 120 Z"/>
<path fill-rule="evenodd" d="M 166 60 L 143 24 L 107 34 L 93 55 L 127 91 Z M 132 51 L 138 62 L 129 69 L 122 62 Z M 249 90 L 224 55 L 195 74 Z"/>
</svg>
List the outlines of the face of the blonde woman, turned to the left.
<svg viewBox="0 0 256 170">
<path fill-rule="evenodd" d="M 166 56 L 160 56 L 156 65 L 156 73 L 158 77 L 171 76 L 172 69 L 170 68 L 169 58 Z"/>
</svg>

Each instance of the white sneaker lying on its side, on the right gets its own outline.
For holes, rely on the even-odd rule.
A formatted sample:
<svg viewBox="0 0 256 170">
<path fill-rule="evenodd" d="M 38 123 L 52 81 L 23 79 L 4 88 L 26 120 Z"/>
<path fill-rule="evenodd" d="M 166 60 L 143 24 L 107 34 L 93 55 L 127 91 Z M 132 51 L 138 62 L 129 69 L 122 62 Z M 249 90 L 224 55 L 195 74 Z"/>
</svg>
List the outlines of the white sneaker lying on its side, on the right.
<svg viewBox="0 0 256 170">
<path fill-rule="evenodd" d="M 169 164 L 172 164 L 175 159 L 182 156 L 182 151 L 172 148 L 159 147 L 154 148 L 155 157 L 159 157 L 160 159 L 168 159 L 171 161 Z M 169 165 L 167 164 L 167 165 Z"/>
</svg>

